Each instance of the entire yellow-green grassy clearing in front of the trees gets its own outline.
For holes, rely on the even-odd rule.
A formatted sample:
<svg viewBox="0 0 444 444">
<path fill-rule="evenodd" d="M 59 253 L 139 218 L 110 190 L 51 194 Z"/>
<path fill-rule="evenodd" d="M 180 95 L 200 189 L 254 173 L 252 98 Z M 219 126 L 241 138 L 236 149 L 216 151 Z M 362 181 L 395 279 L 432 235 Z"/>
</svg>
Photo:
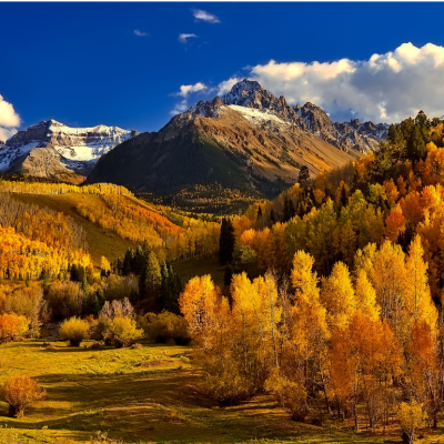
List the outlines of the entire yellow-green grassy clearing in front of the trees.
<svg viewBox="0 0 444 444">
<path fill-rule="evenodd" d="M 1 345 L 0 356 L 0 382 L 10 372 L 28 374 L 47 391 L 20 420 L 8 417 L 0 403 L 0 444 L 88 443 L 99 430 L 139 444 L 400 442 L 397 433 L 354 433 L 333 417 L 323 428 L 292 422 L 268 395 L 220 407 L 199 392 L 190 347 L 91 350 L 29 340 Z M 444 437 L 422 442 L 444 443 Z"/>
</svg>

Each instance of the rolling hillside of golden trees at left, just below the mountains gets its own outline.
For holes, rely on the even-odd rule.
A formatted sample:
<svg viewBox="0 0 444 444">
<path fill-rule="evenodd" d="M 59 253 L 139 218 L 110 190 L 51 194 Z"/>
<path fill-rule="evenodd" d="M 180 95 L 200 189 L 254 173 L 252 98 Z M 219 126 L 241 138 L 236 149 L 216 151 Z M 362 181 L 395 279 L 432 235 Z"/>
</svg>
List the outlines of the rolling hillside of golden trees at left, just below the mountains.
<svg viewBox="0 0 444 444">
<path fill-rule="evenodd" d="M 216 251 L 218 223 L 190 219 L 167 208 L 149 205 L 119 186 L 2 181 L 0 196 L 3 199 L 1 225 L 12 225 L 23 231 L 20 214 L 27 212 L 34 219 L 30 220 L 31 229 L 24 232 L 26 235 L 32 232 L 31 240 L 48 242 L 46 234 L 36 238 L 39 223 L 47 214 L 53 218 L 60 214 L 61 223 L 69 225 L 67 235 L 81 233 L 83 240 L 81 245 L 65 244 L 63 249 L 69 251 L 81 246 L 95 266 L 100 265 L 102 256 L 115 261 L 122 259 L 129 248 L 135 249 L 137 245 L 154 251 L 160 261 L 185 260 Z M 42 213 L 38 212 L 39 209 Z M 12 218 L 16 213 L 17 216 Z M 48 234 L 49 239 L 52 235 L 57 234 Z"/>
</svg>

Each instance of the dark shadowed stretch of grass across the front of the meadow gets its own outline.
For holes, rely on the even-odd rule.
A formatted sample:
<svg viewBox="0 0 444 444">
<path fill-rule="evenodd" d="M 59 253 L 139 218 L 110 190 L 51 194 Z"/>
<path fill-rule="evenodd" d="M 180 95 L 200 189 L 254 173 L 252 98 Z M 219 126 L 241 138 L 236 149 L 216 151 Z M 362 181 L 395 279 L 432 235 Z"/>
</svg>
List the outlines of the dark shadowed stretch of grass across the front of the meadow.
<svg viewBox="0 0 444 444">
<path fill-rule="evenodd" d="M 396 442 L 344 428 L 329 431 L 291 422 L 269 396 L 219 407 L 199 393 L 198 376 L 192 371 L 124 375 L 59 373 L 41 375 L 39 382 L 47 390 L 46 400 L 30 408 L 23 418 L 0 417 L 0 425 L 23 430 L 47 426 L 49 431 L 68 431 L 75 441 L 84 440 L 85 435 L 89 438 L 100 430 L 124 442 L 240 443 L 254 438 L 313 444 Z M 183 421 L 168 420 L 175 412 Z M 7 405 L 0 404 L 0 414 L 7 413 Z"/>
</svg>

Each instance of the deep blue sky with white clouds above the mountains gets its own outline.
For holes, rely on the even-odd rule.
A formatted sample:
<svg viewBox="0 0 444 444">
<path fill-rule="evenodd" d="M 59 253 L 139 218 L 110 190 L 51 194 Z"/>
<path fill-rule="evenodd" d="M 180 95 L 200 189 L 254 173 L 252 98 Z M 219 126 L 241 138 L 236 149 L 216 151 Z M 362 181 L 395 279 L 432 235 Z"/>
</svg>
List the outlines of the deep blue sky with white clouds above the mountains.
<svg viewBox="0 0 444 444">
<path fill-rule="evenodd" d="M 19 124 L 3 125 L 27 128 L 53 118 L 77 127 L 103 123 L 157 131 L 174 108 L 212 98 L 221 82 L 244 77 L 258 78 L 293 102 L 317 99 L 337 119 L 377 119 L 380 112 L 381 120 L 393 120 L 425 103 L 422 97 L 408 102 L 413 94 L 405 89 L 417 90 L 411 83 L 422 83 L 421 70 L 412 67 L 421 56 L 426 68 L 432 56 L 407 48 L 408 54 L 415 53 L 407 70 L 393 68 L 396 57 L 386 54 L 407 42 L 416 49 L 433 43 L 433 60 L 438 60 L 444 34 L 437 18 L 443 12 L 440 3 L 0 3 L 0 95 L 20 117 Z M 181 33 L 198 37 L 180 42 Z M 374 53 L 385 54 L 380 61 L 384 67 L 390 62 L 393 72 L 379 68 L 375 74 L 372 68 L 369 73 L 369 64 L 360 65 L 360 75 L 350 74 L 356 71 L 354 61 L 370 63 Z M 405 53 L 397 54 L 404 62 Z M 331 62 L 341 59 L 352 64 L 344 62 L 337 71 Z M 314 61 L 321 63 L 321 80 L 319 70 L 310 68 Z M 295 62 L 300 64 L 291 64 Z M 304 71 L 306 88 L 289 80 L 287 72 L 300 65 L 310 68 Z M 341 87 L 331 83 L 332 67 Z M 436 62 L 433 67 L 431 81 L 437 82 L 441 68 L 435 70 Z M 387 88 L 401 88 L 401 78 L 403 89 L 386 102 Z M 174 95 L 181 85 L 198 82 L 204 85 L 200 92 Z M 332 93 L 343 84 L 344 102 L 337 91 Z M 366 99 L 357 100 L 361 90 Z M 435 90 L 431 98 L 440 94 Z M 372 99 L 376 95 L 377 102 Z M 400 104 L 398 95 L 408 103 Z M 440 103 L 431 111 L 440 112 Z"/>
</svg>

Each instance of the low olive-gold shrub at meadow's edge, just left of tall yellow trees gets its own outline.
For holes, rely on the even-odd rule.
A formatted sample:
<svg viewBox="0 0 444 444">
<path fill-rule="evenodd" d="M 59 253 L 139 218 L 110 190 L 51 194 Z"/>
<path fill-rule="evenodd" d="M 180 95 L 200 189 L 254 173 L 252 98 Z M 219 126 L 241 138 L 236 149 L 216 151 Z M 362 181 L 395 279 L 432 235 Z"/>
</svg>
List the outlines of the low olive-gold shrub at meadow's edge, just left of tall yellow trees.
<svg viewBox="0 0 444 444">
<path fill-rule="evenodd" d="M 141 319 L 141 326 L 147 336 L 155 342 L 167 343 L 173 340 L 176 344 L 186 345 L 191 340 L 185 319 L 174 313 L 148 313 Z"/>
</svg>

